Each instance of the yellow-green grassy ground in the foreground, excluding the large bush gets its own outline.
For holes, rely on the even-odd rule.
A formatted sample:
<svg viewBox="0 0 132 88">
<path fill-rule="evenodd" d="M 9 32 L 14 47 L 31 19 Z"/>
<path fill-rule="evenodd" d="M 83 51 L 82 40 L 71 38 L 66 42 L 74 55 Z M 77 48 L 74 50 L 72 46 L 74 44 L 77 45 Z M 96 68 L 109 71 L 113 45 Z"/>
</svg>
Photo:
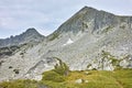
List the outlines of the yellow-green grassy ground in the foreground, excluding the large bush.
<svg viewBox="0 0 132 88">
<path fill-rule="evenodd" d="M 89 70 L 70 72 L 68 76 L 63 76 L 64 81 L 41 80 L 41 81 L 22 81 L 1 82 L 0 88 L 38 88 L 37 84 L 44 84 L 50 88 L 132 88 L 132 69 L 119 69 L 114 72 Z M 59 77 L 58 77 L 59 78 Z M 76 84 L 77 79 L 82 79 L 82 84 Z M 88 82 L 85 82 L 88 80 Z M 13 86 L 11 86 L 13 85 Z M 18 85 L 21 85 L 19 87 Z"/>
</svg>

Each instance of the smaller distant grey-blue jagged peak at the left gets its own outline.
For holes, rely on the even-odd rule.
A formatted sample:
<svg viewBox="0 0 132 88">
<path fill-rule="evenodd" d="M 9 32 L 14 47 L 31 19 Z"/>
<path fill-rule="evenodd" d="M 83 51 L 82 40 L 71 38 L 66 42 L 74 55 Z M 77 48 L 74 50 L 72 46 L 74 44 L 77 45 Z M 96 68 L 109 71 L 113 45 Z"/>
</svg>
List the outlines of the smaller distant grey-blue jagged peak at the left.
<svg viewBox="0 0 132 88">
<path fill-rule="evenodd" d="M 37 43 L 41 42 L 44 36 L 41 35 L 35 29 L 28 29 L 26 32 L 20 35 L 0 40 L 0 47 L 20 45 L 24 43 Z"/>
</svg>

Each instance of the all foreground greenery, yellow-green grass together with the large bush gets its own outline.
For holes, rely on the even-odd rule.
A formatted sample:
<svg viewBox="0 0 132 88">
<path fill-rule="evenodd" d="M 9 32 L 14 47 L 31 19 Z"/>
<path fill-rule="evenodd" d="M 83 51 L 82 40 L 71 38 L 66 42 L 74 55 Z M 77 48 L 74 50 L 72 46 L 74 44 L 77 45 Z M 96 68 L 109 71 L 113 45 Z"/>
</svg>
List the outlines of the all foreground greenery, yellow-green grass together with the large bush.
<svg viewBox="0 0 132 88">
<path fill-rule="evenodd" d="M 78 79 L 82 81 L 76 82 Z M 45 88 L 45 86 L 47 88 L 132 88 L 132 69 L 69 72 L 67 65 L 59 61 L 55 69 L 43 73 L 40 81 L 18 79 L 0 82 L 0 88 Z"/>
</svg>

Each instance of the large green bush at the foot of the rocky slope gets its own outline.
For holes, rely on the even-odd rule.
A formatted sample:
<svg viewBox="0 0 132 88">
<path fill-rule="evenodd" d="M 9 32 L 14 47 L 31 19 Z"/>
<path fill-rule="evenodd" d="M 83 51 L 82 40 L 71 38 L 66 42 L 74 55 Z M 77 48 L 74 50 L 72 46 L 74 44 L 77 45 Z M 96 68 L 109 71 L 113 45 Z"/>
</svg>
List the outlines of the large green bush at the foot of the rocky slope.
<svg viewBox="0 0 132 88">
<path fill-rule="evenodd" d="M 55 82 L 65 81 L 65 77 L 68 75 L 69 68 L 59 58 L 57 58 L 57 57 L 55 57 L 55 58 L 58 59 L 59 65 L 56 64 L 55 69 L 53 69 L 51 72 L 45 72 L 43 74 L 43 79 L 42 80 L 50 80 L 50 81 L 55 81 Z"/>
</svg>

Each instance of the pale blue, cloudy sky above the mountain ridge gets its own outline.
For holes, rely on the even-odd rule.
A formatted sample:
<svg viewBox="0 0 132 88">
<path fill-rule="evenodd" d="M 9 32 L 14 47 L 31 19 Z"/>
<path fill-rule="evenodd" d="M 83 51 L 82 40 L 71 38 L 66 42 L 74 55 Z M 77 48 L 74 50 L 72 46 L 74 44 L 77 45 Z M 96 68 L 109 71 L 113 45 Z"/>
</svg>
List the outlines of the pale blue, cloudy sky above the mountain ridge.
<svg viewBox="0 0 132 88">
<path fill-rule="evenodd" d="M 132 0 L 0 0 L 0 38 L 29 28 L 48 35 L 85 6 L 132 15 Z"/>
</svg>

